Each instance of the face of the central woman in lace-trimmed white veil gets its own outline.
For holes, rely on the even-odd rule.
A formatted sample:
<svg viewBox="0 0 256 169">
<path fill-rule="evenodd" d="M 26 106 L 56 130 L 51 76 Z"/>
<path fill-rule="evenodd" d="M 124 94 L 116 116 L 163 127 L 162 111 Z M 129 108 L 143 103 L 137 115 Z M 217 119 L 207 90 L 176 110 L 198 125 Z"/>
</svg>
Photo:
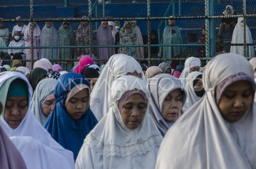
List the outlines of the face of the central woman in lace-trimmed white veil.
<svg viewBox="0 0 256 169">
<path fill-rule="evenodd" d="M 142 123 L 147 111 L 147 103 L 140 94 L 132 94 L 124 102 L 121 109 L 121 117 L 125 126 L 136 129 Z"/>
</svg>

